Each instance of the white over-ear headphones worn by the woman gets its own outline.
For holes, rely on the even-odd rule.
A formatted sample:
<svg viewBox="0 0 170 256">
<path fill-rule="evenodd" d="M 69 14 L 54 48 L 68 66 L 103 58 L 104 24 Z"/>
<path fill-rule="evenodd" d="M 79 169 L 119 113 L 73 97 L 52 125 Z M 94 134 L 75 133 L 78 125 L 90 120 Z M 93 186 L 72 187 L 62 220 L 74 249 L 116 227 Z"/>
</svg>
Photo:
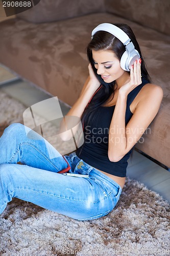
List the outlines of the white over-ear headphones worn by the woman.
<svg viewBox="0 0 170 256">
<path fill-rule="evenodd" d="M 125 71 L 130 71 L 131 66 L 136 59 L 140 58 L 140 55 L 138 51 L 135 50 L 133 42 L 131 41 L 129 36 L 122 29 L 119 29 L 118 27 L 110 23 L 102 23 L 93 29 L 93 31 L 91 32 L 91 39 L 93 38 L 93 35 L 98 31 L 109 32 L 110 34 L 117 37 L 124 44 L 126 51 L 120 59 L 120 67 Z"/>
</svg>

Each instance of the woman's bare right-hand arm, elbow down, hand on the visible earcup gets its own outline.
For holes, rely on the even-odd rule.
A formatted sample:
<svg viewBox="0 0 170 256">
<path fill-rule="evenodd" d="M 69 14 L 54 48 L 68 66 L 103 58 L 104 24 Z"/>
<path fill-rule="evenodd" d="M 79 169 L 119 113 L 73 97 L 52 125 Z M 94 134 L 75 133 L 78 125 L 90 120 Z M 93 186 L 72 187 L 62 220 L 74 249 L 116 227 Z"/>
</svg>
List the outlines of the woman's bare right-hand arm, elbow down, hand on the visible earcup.
<svg viewBox="0 0 170 256">
<path fill-rule="evenodd" d="M 127 96 L 141 83 L 139 63 L 131 70 L 131 81 L 119 89 L 118 98 L 109 129 L 108 157 L 112 162 L 122 159 L 137 143 L 160 108 L 163 91 L 155 84 L 146 84 L 135 112 L 125 126 Z"/>
</svg>

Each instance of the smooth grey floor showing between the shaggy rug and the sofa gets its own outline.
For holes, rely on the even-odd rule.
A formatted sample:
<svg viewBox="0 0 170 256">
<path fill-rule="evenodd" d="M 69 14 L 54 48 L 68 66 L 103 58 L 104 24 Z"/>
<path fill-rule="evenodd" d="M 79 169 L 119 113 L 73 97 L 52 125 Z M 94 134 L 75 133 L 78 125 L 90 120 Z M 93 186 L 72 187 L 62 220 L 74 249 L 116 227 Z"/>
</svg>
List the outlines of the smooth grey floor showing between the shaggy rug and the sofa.
<svg viewBox="0 0 170 256">
<path fill-rule="evenodd" d="M 6 82 L 7 79 L 10 79 L 9 82 Z M 0 67 L 0 93 L 1 91 L 6 92 L 27 106 L 51 97 L 51 95 L 39 90 L 27 81 L 16 80 L 15 75 L 8 70 L 4 70 L 3 67 Z M 61 101 L 60 106 L 63 115 L 65 115 L 69 106 Z M 134 151 L 132 159 L 129 160 L 127 176 L 144 183 L 149 189 L 156 191 L 170 202 L 170 172 L 147 157 Z"/>
</svg>

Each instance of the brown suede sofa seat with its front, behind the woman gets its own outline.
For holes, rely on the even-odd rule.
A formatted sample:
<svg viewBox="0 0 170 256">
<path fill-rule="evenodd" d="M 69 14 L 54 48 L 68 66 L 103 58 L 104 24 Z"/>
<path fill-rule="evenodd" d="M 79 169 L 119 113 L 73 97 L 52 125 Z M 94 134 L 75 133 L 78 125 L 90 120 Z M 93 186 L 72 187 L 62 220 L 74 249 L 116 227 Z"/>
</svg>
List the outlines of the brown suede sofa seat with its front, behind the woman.
<svg viewBox="0 0 170 256">
<path fill-rule="evenodd" d="M 0 62 L 72 105 L 88 76 L 86 46 L 90 33 L 105 22 L 125 23 L 133 29 L 152 82 L 163 89 L 161 108 L 150 125 L 151 132 L 143 135 L 144 142 L 138 142 L 136 148 L 170 167 L 170 36 L 109 13 L 40 24 L 14 18 L 0 23 Z"/>
</svg>

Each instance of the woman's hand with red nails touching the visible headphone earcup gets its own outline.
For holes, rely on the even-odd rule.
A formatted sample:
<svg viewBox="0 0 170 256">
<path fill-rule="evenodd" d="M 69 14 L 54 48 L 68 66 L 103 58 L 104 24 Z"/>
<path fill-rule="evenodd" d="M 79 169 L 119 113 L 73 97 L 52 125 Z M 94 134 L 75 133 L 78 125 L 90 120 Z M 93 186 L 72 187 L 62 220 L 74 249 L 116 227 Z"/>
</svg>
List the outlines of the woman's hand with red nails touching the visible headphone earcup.
<svg viewBox="0 0 170 256">
<path fill-rule="evenodd" d="M 130 80 L 119 89 L 119 93 L 128 95 L 135 87 L 141 84 L 141 59 L 134 62 L 130 69 Z"/>
</svg>

